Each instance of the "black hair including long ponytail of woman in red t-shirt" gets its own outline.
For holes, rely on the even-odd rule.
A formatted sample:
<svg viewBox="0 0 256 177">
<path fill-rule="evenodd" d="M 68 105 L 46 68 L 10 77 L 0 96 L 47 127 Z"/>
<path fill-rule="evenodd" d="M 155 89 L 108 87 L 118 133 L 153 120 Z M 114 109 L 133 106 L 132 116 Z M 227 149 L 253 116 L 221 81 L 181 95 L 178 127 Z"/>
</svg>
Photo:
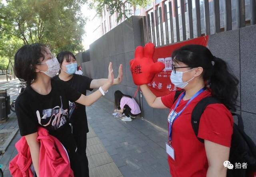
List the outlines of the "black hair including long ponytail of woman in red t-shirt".
<svg viewBox="0 0 256 177">
<path fill-rule="evenodd" d="M 230 73 L 227 63 L 214 57 L 207 47 L 185 45 L 172 53 L 174 62 L 182 62 L 191 68 L 202 67 L 202 78 L 208 81 L 212 96 L 218 98 L 228 109 L 236 110 L 238 79 Z"/>
</svg>

